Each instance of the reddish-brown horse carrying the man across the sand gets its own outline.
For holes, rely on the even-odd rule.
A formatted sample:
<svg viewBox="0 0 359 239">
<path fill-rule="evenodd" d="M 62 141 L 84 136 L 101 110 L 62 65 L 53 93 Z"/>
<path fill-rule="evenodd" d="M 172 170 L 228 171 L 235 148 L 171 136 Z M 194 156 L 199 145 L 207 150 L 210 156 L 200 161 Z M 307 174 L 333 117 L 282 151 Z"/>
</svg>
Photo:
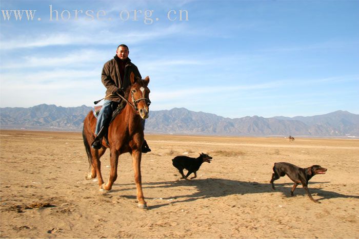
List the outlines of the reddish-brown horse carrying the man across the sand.
<svg viewBox="0 0 359 239">
<path fill-rule="evenodd" d="M 146 208 L 141 181 L 141 148 L 144 141 L 144 129 L 141 122 L 148 118 L 148 107 L 151 101 L 149 100 L 150 90 L 147 85 L 150 79 L 148 76 L 145 79 L 137 79 L 133 73 L 131 73 L 130 79 L 131 86 L 128 87 L 124 97 L 124 100 L 127 99 L 127 104 L 108 128 L 108 145 L 104 137 L 101 149 L 91 147 L 91 143 L 95 139 L 96 118 L 91 111 L 84 120 L 83 138 L 91 167 L 91 172 L 88 173 L 86 179 L 94 179 L 97 176 L 99 190 L 111 190 L 117 178 L 118 156 L 130 153 L 137 188 L 137 206 Z M 105 184 L 101 175 L 99 158 L 104 155 L 107 148 L 110 148 L 111 152 L 111 171 L 108 183 Z"/>
</svg>

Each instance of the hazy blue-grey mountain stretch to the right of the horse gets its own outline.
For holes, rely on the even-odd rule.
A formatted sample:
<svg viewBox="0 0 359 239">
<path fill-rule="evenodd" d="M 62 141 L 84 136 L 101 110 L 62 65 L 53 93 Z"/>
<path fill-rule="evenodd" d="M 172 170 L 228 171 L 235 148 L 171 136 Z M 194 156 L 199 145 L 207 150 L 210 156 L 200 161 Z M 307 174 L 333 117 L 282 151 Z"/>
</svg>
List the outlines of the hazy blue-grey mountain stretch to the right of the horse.
<svg viewBox="0 0 359 239">
<path fill-rule="evenodd" d="M 151 112 L 146 131 L 172 134 L 223 136 L 359 136 L 359 115 L 336 111 L 310 117 L 259 116 L 224 118 L 214 114 L 173 108 Z"/>
</svg>

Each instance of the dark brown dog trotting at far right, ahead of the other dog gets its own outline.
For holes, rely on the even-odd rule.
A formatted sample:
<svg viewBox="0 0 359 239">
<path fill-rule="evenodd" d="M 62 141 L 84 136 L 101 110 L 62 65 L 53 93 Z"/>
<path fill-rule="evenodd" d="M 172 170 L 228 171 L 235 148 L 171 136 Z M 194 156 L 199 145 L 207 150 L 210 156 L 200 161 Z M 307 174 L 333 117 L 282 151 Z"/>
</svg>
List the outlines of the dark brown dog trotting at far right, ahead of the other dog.
<svg viewBox="0 0 359 239">
<path fill-rule="evenodd" d="M 313 165 L 308 168 L 300 168 L 291 163 L 282 162 L 282 163 L 274 163 L 273 171 L 274 173 L 272 175 L 272 180 L 270 181 L 273 190 L 275 190 L 273 183 L 274 180 L 277 180 L 280 177 L 284 177 L 285 175 L 287 175 L 294 182 L 292 190 L 290 190 L 290 195 L 292 197 L 294 195 L 293 192 L 296 186 L 298 186 L 298 184 L 301 183 L 303 185 L 304 190 L 308 193 L 309 198 L 316 203 L 320 203 L 312 198 L 312 195 L 308 190 L 308 181 L 314 175 L 324 174 L 327 171 L 326 168 L 322 168 L 319 165 Z"/>
</svg>

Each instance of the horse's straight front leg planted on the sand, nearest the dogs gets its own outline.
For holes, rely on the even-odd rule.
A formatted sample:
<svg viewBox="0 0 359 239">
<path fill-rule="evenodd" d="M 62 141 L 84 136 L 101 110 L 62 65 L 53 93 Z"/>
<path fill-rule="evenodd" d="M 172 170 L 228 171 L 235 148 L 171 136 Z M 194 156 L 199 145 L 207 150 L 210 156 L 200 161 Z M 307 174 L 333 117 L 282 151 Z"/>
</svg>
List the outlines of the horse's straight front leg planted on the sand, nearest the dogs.
<svg viewBox="0 0 359 239">
<path fill-rule="evenodd" d="M 147 204 L 144 199 L 143 191 L 142 191 L 142 179 L 141 179 L 141 147 L 140 149 L 136 149 L 132 151 L 132 164 L 133 171 L 137 189 L 137 206 L 139 208 L 147 208 Z"/>
</svg>

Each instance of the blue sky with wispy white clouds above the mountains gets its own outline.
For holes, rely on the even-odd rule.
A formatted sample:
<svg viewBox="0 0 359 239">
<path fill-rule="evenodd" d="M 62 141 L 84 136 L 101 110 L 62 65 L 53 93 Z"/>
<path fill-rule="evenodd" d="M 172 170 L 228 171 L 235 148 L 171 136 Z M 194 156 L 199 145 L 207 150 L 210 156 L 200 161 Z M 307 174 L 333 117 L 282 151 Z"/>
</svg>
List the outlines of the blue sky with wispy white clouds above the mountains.
<svg viewBox="0 0 359 239">
<path fill-rule="evenodd" d="M 359 1 L 1 1 L 1 10 L 1 107 L 92 106 L 105 94 L 104 63 L 126 44 L 150 76 L 150 110 L 359 114 Z M 6 10 L 36 12 L 16 20 Z"/>
</svg>

